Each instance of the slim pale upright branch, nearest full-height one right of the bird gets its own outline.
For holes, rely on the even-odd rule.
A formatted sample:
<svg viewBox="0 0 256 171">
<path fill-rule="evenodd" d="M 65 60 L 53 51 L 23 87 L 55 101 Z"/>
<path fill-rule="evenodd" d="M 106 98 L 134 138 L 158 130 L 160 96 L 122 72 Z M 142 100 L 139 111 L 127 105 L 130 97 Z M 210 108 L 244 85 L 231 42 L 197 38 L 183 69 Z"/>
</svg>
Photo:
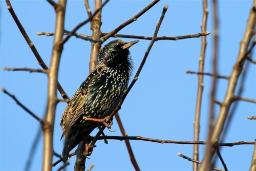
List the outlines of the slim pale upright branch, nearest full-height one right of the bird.
<svg viewBox="0 0 256 171">
<path fill-rule="evenodd" d="M 201 25 L 202 32 L 206 31 L 207 24 L 207 16 L 208 16 L 208 8 L 207 8 L 207 0 L 203 0 L 203 22 Z M 199 72 L 204 72 L 204 58 L 205 58 L 205 50 L 206 50 L 206 36 L 202 36 L 202 44 L 201 44 L 201 54 L 199 59 Z M 203 75 L 198 75 L 198 91 L 197 91 L 197 104 L 196 104 L 196 115 L 194 122 L 194 141 L 199 141 L 199 132 L 200 132 L 200 113 L 201 113 L 201 105 L 202 105 L 202 95 L 203 95 Z M 194 160 L 199 160 L 199 145 L 194 145 Z M 198 163 L 193 162 L 193 170 L 198 169 Z"/>
</svg>

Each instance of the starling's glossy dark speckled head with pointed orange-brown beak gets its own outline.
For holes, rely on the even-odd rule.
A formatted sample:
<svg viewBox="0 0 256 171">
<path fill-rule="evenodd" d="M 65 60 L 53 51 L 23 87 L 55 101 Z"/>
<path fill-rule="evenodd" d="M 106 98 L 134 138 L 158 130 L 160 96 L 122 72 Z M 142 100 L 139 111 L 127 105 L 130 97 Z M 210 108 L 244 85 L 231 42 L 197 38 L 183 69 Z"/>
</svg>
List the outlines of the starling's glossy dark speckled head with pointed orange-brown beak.
<svg viewBox="0 0 256 171">
<path fill-rule="evenodd" d="M 136 44 L 138 40 L 124 42 L 120 39 L 113 40 L 106 44 L 99 55 L 99 63 L 103 63 L 110 67 L 124 67 L 133 68 L 132 59 L 129 57 L 129 48 Z M 124 66 L 123 66 L 124 65 Z"/>
</svg>

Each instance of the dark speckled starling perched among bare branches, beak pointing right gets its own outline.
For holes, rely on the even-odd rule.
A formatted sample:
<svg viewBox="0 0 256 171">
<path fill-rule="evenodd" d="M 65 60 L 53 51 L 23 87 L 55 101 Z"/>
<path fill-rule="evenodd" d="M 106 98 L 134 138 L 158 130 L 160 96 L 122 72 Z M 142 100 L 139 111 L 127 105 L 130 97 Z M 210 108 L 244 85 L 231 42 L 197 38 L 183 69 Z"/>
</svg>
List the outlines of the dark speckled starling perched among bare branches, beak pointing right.
<svg viewBox="0 0 256 171">
<path fill-rule="evenodd" d="M 61 139 L 65 136 L 62 155 L 66 161 L 69 152 L 102 125 L 88 119 L 108 117 L 118 105 L 133 71 L 129 48 L 137 42 L 117 39 L 106 44 L 100 52 L 97 67 L 82 82 L 63 112 L 60 126 L 63 130 Z"/>
</svg>

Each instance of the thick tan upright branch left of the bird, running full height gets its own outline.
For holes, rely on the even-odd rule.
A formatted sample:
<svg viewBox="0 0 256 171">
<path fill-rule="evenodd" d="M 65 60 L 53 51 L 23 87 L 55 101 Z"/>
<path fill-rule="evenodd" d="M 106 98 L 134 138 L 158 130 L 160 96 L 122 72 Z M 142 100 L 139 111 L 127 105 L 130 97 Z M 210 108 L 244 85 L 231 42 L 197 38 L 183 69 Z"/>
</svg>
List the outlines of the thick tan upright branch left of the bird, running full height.
<svg viewBox="0 0 256 171">
<path fill-rule="evenodd" d="M 42 170 L 44 171 L 52 169 L 53 128 L 54 128 L 55 110 L 57 105 L 57 78 L 58 78 L 60 56 L 63 49 L 61 40 L 64 33 L 66 4 L 67 4 L 66 0 L 59 0 L 59 3 L 55 9 L 56 24 L 55 24 L 55 36 L 54 36 L 54 42 L 53 42 L 51 65 L 49 68 L 47 114 L 45 117 L 45 124 L 42 129 L 43 135 L 44 135 Z"/>
</svg>

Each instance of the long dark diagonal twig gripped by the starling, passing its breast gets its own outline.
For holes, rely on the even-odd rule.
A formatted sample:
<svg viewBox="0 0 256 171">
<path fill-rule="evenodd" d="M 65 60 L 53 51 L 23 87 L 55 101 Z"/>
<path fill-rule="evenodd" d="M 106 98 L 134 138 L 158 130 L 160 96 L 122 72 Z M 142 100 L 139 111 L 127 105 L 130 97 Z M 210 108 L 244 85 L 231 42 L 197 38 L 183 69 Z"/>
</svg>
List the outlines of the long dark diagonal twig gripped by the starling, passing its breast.
<svg viewBox="0 0 256 171">
<path fill-rule="evenodd" d="M 116 109 L 111 113 L 111 115 L 109 116 L 109 118 L 106 119 L 106 122 L 107 122 L 107 123 L 108 123 L 109 120 L 118 112 L 118 110 L 120 110 L 121 105 L 122 105 L 122 103 L 123 103 L 125 97 L 126 97 L 127 94 L 130 92 L 130 90 L 132 89 L 133 85 L 134 85 L 135 82 L 137 81 L 138 76 L 139 76 L 139 74 L 140 74 L 140 72 L 141 72 L 141 70 L 142 70 L 142 68 L 143 68 L 143 66 L 144 66 L 144 63 L 145 63 L 145 61 L 146 61 L 146 58 L 147 58 L 148 54 L 150 53 L 150 50 L 151 50 L 151 48 L 152 48 L 152 46 L 153 46 L 153 44 L 154 44 L 154 42 L 155 42 L 155 38 L 157 37 L 157 33 L 158 33 L 158 31 L 159 31 L 159 28 L 160 28 L 160 26 L 161 26 L 162 20 L 163 20 L 163 18 L 164 18 L 164 14 L 165 14 L 165 12 L 167 11 L 167 9 L 168 9 L 168 6 L 166 5 L 166 6 L 163 8 L 163 12 L 162 12 L 161 17 L 160 17 L 160 19 L 159 19 L 159 22 L 158 22 L 158 24 L 157 24 L 157 26 L 156 26 L 156 30 L 155 30 L 153 39 L 151 40 L 151 43 L 150 43 L 150 45 L 148 46 L 148 48 L 147 48 L 147 50 L 146 50 L 146 52 L 145 52 L 145 55 L 144 55 L 144 57 L 143 57 L 143 59 L 142 59 L 142 61 L 141 61 L 140 67 L 139 67 L 137 73 L 135 74 L 134 79 L 132 80 L 130 86 L 127 88 L 127 90 L 124 91 L 123 96 L 122 96 L 121 100 L 119 101 L 119 103 L 118 103 Z M 105 129 L 105 126 L 103 125 L 103 126 L 101 127 L 101 129 L 99 130 L 99 132 L 97 133 L 97 135 L 96 135 L 96 136 L 94 137 L 94 139 L 92 140 L 91 144 L 89 145 L 89 154 L 88 154 L 88 155 L 90 155 L 90 154 L 92 153 L 94 144 L 96 143 L 96 141 L 98 140 L 99 136 L 101 135 L 101 133 L 103 132 L 104 129 Z"/>
</svg>

